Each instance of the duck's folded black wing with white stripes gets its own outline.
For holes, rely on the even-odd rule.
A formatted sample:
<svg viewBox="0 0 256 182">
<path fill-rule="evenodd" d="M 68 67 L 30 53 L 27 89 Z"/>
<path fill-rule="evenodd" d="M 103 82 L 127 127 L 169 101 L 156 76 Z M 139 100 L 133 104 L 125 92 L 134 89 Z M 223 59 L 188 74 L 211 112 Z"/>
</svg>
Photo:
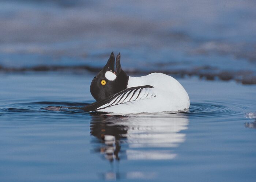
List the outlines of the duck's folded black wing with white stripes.
<svg viewBox="0 0 256 182">
<path fill-rule="evenodd" d="M 156 96 L 152 88 L 153 86 L 150 85 L 131 87 L 116 94 L 113 94 L 101 101 L 94 102 L 91 105 L 79 109 L 82 109 L 86 112 L 98 111 L 100 109 L 105 109 L 113 105 L 124 104 L 126 102 L 135 100 L 152 98 Z"/>
</svg>

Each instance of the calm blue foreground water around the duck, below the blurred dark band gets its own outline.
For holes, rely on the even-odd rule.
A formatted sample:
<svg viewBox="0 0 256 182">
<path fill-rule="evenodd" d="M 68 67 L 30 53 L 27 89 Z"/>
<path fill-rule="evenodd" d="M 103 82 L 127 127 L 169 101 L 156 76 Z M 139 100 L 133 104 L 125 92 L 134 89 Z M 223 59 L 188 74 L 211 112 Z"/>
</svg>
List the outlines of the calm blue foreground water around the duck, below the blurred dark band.
<svg viewBox="0 0 256 182">
<path fill-rule="evenodd" d="M 41 109 L 92 102 L 93 76 L 1 75 L 0 181 L 255 181 L 255 85 L 179 79 L 187 113 Z"/>
</svg>

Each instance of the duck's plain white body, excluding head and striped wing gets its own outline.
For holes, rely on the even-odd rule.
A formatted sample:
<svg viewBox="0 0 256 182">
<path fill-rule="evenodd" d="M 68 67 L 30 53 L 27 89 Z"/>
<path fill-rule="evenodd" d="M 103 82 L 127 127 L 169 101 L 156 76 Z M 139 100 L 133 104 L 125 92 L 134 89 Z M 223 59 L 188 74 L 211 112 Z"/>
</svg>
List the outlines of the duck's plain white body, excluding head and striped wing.
<svg viewBox="0 0 256 182">
<path fill-rule="evenodd" d="M 156 97 L 129 101 L 98 111 L 112 113 L 154 113 L 182 111 L 189 108 L 189 97 L 183 86 L 173 77 L 151 73 L 142 77 L 129 77 L 127 88 L 151 85 Z"/>
</svg>

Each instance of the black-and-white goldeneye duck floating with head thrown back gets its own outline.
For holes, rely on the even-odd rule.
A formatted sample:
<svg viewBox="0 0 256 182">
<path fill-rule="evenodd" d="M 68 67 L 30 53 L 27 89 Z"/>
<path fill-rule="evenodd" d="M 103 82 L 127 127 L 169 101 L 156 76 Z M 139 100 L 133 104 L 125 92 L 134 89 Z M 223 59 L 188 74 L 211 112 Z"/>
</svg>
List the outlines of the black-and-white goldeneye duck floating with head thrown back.
<svg viewBox="0 0 256 182">
<path fill-rule="evenodd" d="M 189 108 L 189 97 L 173 77 L 151 73 L 129 77 L 121 68 L 120 53 L 114 53 L 101 71 L 93 78 L 90 92 L 96 102 L 82 109 L 87 112 L 154 113 L 183 111 Z"/>
</svg>

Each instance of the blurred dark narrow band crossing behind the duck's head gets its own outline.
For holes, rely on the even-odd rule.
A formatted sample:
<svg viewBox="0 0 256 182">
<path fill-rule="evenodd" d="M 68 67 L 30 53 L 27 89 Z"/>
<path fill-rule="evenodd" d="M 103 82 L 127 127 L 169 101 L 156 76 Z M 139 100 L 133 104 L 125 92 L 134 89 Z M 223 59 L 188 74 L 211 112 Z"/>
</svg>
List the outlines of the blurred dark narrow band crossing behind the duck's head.
<svg viewBox="0 0 256 182">
<path fill-rule="evenodd" d="M 98 73 L 100 67 L 93 67 L 89 65 L 79 66 L 60 66 L 60 65 L 41 65 L 32 67 L 4 67 L 0 66 L 0 73 L 19 73 L 29 71 L 89 71 Z M 174 69 L 174 70 L 140 70 L 140 69 L 127 69 L 124 70 L 128 75 L 146 75 L 150 73 L 164 73 L 168 75 L 176 75 L 179 77 L 184 76 L 199 76 L 206 80 L 235 80 L 241 84 L 256 84 L 256 75 L 252 71 L 212 71 L 208 66 L 193 67 L 191 69 Z"/>
</svg>

